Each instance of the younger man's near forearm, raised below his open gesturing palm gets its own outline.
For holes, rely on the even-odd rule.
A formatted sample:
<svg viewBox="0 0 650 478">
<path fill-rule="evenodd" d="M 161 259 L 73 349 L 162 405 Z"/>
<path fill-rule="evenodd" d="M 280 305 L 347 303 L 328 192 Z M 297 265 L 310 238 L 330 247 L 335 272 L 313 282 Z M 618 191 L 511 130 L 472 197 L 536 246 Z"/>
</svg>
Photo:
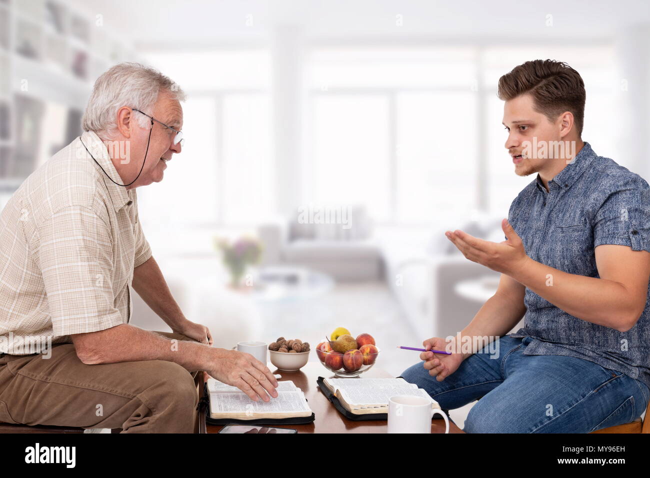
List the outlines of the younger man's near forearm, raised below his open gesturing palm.
<svg viewBox="0 0 650 478">
<path fill-rule="evenodd" d="M 509 274 L 564 312 L 598 325 L 627 330 L 634 314 L 634 300 L 623 284 L 595 277 L 569 274 L 528 258 Z"/>
</svg>

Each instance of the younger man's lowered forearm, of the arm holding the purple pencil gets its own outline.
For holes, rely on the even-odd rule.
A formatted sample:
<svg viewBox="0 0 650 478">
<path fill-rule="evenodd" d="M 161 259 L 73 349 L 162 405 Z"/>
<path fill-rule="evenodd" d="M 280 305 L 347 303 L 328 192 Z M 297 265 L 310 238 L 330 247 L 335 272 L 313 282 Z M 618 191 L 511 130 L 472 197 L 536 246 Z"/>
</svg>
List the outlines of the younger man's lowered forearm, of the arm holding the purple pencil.
<svg viewBox="0 0 650 478">
<path fill-rule="evenodd" d="M 471 338 L 469 342 L 471 350 L 462 349 L 463 356 L 467 358 L 496 338 L 508 334 L 525 312 L 526 307 L 523 302 L 517 302 L 498 294 L 487 299 L 486 303 L 476 312 L 472 321 L 460 332 L 463 342 L 469 340 L 463 339 L 463 337 Z"/>
</svg>

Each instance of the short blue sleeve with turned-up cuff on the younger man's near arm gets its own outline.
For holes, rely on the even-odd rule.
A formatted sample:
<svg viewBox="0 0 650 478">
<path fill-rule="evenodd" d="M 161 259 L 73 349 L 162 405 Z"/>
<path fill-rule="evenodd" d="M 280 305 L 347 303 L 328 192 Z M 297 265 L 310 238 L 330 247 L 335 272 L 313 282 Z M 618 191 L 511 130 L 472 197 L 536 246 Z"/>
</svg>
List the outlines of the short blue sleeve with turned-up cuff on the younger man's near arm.
<svg viewBox="0 0 650 478">
<path fill-rule="evenodd" d="M 650 252 L 650 187 L 645 181 L 626 181 L 598 209 L 593 246 L 603 244 Z"/>
</svg>

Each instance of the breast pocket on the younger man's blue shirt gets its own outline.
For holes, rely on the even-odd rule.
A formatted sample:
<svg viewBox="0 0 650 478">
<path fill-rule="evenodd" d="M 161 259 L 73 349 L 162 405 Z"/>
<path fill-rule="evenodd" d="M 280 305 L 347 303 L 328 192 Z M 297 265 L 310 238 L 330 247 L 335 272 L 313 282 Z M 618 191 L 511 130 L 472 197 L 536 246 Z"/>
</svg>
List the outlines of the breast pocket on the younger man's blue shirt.
<svg viewBox="0 0 650 478">
<path fill-rule="evenodd" d="M 593 231 L 586 224 L 566 224 L 553 229 L 551 267 L 569 274 L 595 275 Z"/>
</svg>

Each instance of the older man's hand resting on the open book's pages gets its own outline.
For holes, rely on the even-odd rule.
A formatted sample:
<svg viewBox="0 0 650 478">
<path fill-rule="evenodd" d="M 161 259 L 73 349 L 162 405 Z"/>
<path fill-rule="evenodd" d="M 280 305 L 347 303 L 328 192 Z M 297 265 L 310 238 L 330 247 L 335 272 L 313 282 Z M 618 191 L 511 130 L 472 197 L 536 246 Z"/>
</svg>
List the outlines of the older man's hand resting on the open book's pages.
<svg viewBox="0 0 650 478">
<path fill-rule="evenodd" d="M 213 349 L 216 358 L 207 373 L 220 382 L 235 386 L 252 400 L 270 401 L 277 397 L 278 380 L 265 364 L 251 354 L 235 350 Z M 268 393 L 266 393 L 268 392 Z"/>
</svg>

